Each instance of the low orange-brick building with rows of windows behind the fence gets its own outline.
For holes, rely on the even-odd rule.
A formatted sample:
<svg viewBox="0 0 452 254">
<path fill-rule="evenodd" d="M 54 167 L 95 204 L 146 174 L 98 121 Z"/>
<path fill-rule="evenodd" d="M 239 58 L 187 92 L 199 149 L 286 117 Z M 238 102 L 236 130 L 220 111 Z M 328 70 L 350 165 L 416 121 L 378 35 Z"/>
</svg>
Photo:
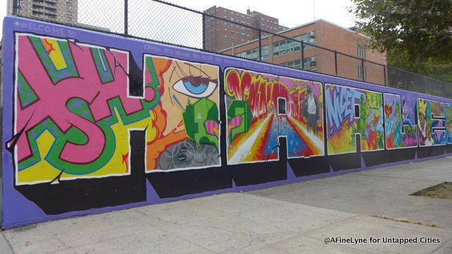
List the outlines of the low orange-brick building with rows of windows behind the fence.
<svg viewBox="0 0 452 254">
<path fill-rule="evenodd" d="M 384 69 L 381 66 L 362 61 L 365 59 L 386 64 L 386 53 L 376 52 L 366 47 L 370 39 L 366 35 L 322 19 L 275 32 L 275 34 L 262 38 L 261 61 L 330 75 L 336 74 L 334 52 L 308 44 L 304 44 L 304 50 L 302 50 L 302 44 L 294 41 L 298 40 L 357 57 L 358 59 L 353 59 L 341 54 L 336 55 L 337 73 L 340 77 L 378 84 L 384 83 L 386 75 Z M 221 35 L 217 36 L 221 37 Z M 287 40 L 285 37 L 294 40 Z M 230 45 L 220 52 L 259 60 L 258 43 L 258 40 L 250 40 L 234 44 L 234 46 Z"/>
</svg>

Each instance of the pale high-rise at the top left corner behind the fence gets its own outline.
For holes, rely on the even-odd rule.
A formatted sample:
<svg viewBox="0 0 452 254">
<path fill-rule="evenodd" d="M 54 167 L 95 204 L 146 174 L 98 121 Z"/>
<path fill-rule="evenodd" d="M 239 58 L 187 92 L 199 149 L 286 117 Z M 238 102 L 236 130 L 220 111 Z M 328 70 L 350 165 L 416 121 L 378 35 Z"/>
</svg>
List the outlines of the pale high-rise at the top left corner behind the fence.
<svg viewBox="0 0 452 254">
<path fill-rule="evenodd" d="M 77 23 L 78 0 L 8 0 L 8 15 Z"/>
</svg>

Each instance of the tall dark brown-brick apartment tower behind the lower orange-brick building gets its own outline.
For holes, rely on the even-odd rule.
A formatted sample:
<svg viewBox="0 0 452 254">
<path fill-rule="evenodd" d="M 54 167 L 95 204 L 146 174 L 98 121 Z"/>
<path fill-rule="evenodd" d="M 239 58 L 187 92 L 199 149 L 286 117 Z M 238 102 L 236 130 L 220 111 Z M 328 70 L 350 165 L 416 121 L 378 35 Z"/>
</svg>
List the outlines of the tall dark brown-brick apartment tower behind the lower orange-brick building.
<svg viewBox="0 0 452 254">
<path fill-rule="evenodd" d="M 287 29 L 283 25 L 279 25 L 278 18 L 249 9 L 246 10 L 246 13 L 239 13 L 220 6 L 212 6 L 206 10 L 206 13 L 241 24 L 237 25 L 206 16 L 204 21 L 204 49 L 212 52 L 220 52 L 223 49 L 258 38 L 258 30 L 246 28 L 242 25 L 260 28 L 268 32 L 280 32 Z"/>
</svg>

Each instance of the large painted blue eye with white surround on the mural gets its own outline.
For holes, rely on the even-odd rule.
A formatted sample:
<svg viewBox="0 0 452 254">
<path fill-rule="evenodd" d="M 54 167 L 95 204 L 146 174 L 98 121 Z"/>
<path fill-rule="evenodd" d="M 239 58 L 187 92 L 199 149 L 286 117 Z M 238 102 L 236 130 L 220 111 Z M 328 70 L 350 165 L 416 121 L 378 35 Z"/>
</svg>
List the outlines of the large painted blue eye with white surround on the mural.
<svg viewBox="0 0 452 254">
<path fill-rule="evenodd" d="M 188 76 L 174 83 L 173 88 L 177 92 L 190 97 L 202 98 L 210 96 L 217 87 L 217 80 Z"/>
</svg>

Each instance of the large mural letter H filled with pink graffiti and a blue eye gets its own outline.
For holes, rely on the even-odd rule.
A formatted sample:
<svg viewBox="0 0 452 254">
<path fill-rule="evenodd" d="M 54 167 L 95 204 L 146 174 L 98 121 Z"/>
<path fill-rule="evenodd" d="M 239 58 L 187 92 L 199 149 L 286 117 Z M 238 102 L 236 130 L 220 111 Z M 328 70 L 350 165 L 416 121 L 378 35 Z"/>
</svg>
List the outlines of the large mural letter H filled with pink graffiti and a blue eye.
<svg viewBox="0 0 452 254">
<path fill-rule="evenodd" d="M 147 171 L 220 165 L 217 66 L 146 55 L 135 97 L 128 52 L 20 33 L 16 49 L 17 184 L 130 174 L 136 129 Z"/>
</svg>

